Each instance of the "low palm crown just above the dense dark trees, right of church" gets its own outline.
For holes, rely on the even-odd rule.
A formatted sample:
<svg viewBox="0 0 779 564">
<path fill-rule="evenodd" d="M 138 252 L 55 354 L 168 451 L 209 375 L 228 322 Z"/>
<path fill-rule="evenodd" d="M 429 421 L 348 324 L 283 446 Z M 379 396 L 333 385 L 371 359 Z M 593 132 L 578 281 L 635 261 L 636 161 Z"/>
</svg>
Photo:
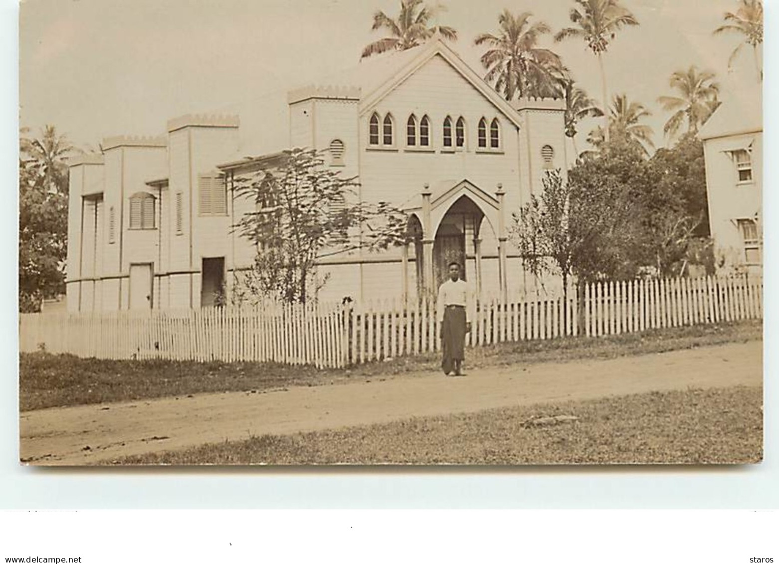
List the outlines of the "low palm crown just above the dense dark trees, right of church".
<svg viewBox="0 0 779 564">
<path fill-rule="evenodd" d="M 606 137 L 604 128 L 600 125 L 590 131 L 587 141 L 596 149 L 603 149 L 611 143 L 624 143 L 639 150 L 644 156 L 649 156 L 647 146 L 654 149 L 651 126 L 640 123 L 644 117 L 652 114 L 643 103 L 630 102 L 626 94 L 615 94 L 612 105 L 608 108 L 608 129 L 611 141 Z"/>
</svg>

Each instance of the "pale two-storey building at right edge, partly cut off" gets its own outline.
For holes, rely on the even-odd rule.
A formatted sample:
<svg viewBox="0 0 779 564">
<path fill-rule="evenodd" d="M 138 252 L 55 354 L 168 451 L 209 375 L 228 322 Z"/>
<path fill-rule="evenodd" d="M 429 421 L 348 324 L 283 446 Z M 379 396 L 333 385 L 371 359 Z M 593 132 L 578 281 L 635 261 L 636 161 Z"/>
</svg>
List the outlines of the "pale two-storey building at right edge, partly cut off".
<svg viewBox="0 0 779 564">
<path fill-rule="evenodd" d="M 700 130 L 709 222 L 721 271 L 763 268 L 763 112 L 760 90 L 725 101 Z"/>
</svg>

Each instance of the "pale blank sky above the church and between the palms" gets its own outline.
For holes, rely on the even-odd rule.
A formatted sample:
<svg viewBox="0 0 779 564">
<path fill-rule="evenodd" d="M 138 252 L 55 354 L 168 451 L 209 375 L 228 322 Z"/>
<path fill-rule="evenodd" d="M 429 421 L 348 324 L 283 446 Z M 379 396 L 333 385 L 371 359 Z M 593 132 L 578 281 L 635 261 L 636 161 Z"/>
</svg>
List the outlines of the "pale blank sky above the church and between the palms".
<svg viewBox="0 0 779 564">
<path fill-rule="evenodd" d="M 754 80 L 751 52 L 727 61 L 737 36 L 713 37 L 735 0 L 623 0 L 640 26 L 622 30 L 605 57 L 610 93 L 627 93 L 653 116 L 656 145 L 668 118 L 657 96 L 671 72 L 697 65 L 728 91 Z M 453 26 L 453 48 L 477 72 L 478 33 L 497 30 L 504 8 L 529 11 L 557 31 L 571 0 L 443 0 L 439 23 Z M 19 17 L 20 124 L 44 124 L 79 146 L 110 135 L 159 135 L 171 117 L 234 111 L 247 104 L 273 124 L 264 150 L 280 149 L 288 89 L 357 65 L 372 13 L 397 15 L 398 0 L 26 0 Z M 582 40 L 542 47 L 558 52 L 574 78 L 600 98 L 597 59 Z M 737 86 L 738 87 L 738 86 Z M 725 93 L 727 95 L 727 92 Z M 583 124 L 582 137 L 594 124 Z M 583 142 L 583 139 L 582 139 Z"/>
</svg>

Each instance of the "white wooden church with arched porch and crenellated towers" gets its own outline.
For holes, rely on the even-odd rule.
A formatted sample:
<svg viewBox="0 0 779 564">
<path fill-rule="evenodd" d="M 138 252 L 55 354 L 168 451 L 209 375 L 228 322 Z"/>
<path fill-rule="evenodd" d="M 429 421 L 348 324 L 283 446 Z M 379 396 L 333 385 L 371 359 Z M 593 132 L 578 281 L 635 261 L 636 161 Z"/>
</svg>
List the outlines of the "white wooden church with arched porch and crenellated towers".
<svg viewBox="0 0 779 564">
<path fill-rule="evenodd" d="M 437 288 L 453 259 L 482 296 L 534 285 L 506 235 L 544 171 L 569 167 L 562 101 L 507 103 L 441 40 L 363 61 L 287 101 L 279 149 L 328 150 L 330 166 L 359 177 L 364 201 L 403 208 L 416 236 L 383 254 L 323 259 L 320 299 L 413 297 Z M 231 232 L 249 209 L 231 178 L 279 156 L 245 158 L 257 129 L 239 132 L 238 115 L 185 115 L 167 135 L 108 138 L 103 156 L 73 161 L 68 309 L 201 307 L 223 282 L 229 291 L 255 256 Z"/>
</svg>

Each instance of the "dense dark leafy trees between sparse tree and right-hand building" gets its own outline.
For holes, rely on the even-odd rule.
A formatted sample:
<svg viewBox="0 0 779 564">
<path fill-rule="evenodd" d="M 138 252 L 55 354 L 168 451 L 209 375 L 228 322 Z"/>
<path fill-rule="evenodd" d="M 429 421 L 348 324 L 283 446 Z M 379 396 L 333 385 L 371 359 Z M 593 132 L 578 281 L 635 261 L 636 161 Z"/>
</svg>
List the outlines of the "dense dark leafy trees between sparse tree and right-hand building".
<svg viewBox="0 0 779 564">
<path fill-rule="evenodd" d="M 628 223 L 614 226 L 614 244 L 590 275 L 601 271 L 610 278 L 633 278 L 651 267 L 671 276 L 689 264 L 709 262 L 701 253 L 709 233 L 703 146 L 694 136 L 651 159 L 635 144 L 613 139 L 599 155 L 574 167 L 569 178 L 583 197 L 605 190 L 615 201 L 608 212 Z"/>
</svg>

